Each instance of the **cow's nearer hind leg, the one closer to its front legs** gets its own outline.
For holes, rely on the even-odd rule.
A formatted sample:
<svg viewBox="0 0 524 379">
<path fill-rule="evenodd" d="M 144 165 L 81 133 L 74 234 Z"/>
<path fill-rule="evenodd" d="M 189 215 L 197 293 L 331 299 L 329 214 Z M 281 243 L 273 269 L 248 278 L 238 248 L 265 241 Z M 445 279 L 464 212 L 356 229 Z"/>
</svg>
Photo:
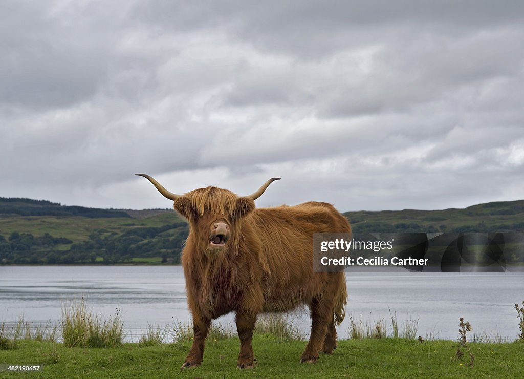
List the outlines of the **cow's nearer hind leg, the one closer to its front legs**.
<svg viewBox="0 0 524 379">
<path fill-rule="evenodd" d="M 316 362 L 319 358 L 320 348 L 326 337 L 328 324 L 333 322 L 331 304 L 326 304 L 322 299 L 314 298 L 309 306 L 311 308 L 311 335 L 309 337 L 308 345 L 305 346 L 300 363 Z"/>
</svg>

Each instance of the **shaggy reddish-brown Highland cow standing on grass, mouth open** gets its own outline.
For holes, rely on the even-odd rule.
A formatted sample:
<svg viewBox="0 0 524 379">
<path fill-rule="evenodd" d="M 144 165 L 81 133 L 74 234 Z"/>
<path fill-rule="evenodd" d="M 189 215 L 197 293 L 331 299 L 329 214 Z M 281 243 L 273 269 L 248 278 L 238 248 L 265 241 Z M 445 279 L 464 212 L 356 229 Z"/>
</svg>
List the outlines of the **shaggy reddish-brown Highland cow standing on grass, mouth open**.
<svg viewBox="0 0 524 379">
<path fill-rule="evenodd" d="M 182 266 L 194 340 L 182 369 L 202 362 L 211 320 L 232 311 L 240 339 L 240 368 L 253 367 L 251 342 L 257 315 L 303 304 L 309 306 L 312 322 L 301 362 L 316 362 L 321 350 L 332 353 L 335 323 L 340 325 L 344 319 L 346 279 L 344 273 L 313 273 L 313 233 L 349 233 L 351 228 L 331 204 L 255 209 L 254 200 L 279 178 L 238 197 L 216 187 L 178 195 L 148 175 L 137 175 L 173 200 L 174 209 L 189 221 Z"/>
</svg>

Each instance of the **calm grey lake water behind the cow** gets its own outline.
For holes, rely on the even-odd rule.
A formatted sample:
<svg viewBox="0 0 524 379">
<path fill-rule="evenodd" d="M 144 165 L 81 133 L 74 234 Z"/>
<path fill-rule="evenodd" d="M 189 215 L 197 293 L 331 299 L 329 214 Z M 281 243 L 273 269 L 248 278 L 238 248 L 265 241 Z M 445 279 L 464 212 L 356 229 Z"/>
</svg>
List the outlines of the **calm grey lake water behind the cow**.
<svg viewBox="0 0 524 379">
<path fill-rule="evenodd" d="M 418 319 L 418 335 L 458 337 L 459 317 L 473 334 L 515 339 L 519 332 L 514 305 L 524 300 L 524 274 L 347 273 L 350 298 L 339 329 L 347 337 L 348 317 L 365 322 L 396 311 L 399 326 Z M 110 318 L 116 309 L 127 340 L 136 342 L 148 325 L 165 327 L 188 321 L 184 277 L 176 266 L 0 266 L 0 321 L 20 315 L 34 323 L 58 323 L 62 307 L 84 298 L 94 313 Z M 307 311 L 293 314 L 308 333 Z M 233 315 L 215 321 L 234 328 Z"/>
</svg>

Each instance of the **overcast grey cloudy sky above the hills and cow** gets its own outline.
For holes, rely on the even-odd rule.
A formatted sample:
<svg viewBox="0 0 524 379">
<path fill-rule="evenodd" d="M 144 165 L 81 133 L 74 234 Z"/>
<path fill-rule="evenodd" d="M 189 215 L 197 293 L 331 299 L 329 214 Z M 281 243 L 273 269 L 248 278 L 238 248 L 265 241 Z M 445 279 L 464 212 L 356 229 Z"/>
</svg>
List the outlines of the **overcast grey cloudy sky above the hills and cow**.
<svg viewBox="0 0 524 379">
<path fill-rule="evenodd" d="M 524 198 L 524 3 L 0 2 L 0 197 Z"/>
</svg>

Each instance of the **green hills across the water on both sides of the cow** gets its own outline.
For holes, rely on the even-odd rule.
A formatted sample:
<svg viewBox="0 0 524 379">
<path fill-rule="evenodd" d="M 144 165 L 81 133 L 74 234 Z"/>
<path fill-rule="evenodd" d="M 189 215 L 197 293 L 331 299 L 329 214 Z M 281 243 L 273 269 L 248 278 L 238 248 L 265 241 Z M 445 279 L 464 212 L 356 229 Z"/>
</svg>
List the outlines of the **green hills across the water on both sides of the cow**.
<svg viewBox="0 0 524 379">
<path fill-rule="evenodd" d="M 343 213 L 355 232 L 522 232 L 524 200 L 466 209 Z M 0 198 L 0 264 L 178 264 L 187 223 L 167 209 Z"/>
</svg>

